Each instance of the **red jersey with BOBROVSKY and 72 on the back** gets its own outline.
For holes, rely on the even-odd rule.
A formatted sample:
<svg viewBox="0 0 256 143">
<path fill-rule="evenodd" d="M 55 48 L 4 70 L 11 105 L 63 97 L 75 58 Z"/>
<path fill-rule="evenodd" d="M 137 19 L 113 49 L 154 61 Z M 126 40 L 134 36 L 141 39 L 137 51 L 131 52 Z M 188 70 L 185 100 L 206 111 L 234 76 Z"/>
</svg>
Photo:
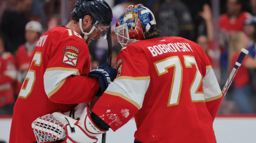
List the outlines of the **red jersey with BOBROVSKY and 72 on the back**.
<svg viewBox="0 0 256 143">
<path fill-rule="evenodd" d="M 113 131 L 135 116 L 135 141 L 216 142 L 222 94 L 199 45 L 181 37 L 142 40 L 124 47 L 116 65 L 117 78 L 92 110 Z"/>
</svg>

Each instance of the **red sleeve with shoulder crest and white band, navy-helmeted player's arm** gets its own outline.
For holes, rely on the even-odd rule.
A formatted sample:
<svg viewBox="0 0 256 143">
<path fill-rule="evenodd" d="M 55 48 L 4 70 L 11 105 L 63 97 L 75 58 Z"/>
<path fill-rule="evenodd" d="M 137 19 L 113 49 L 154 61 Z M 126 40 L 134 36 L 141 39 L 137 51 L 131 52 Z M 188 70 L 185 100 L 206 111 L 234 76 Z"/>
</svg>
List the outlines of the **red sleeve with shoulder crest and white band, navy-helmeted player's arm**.
<svg viewBox="0 0 256 143">
<path fill-rule="evenodd" d="M 47 54 L 49 61 L 43 75 L 44 90 L 48 98 L 56 103 L 91 101 L 97 93 L 99 81 L 83 75 L 84 66 L 89 62 L 85 42 L 69 36 L 52 46 Z M 87 68 L 89 71 L 90 67 Z"/>
</svg>

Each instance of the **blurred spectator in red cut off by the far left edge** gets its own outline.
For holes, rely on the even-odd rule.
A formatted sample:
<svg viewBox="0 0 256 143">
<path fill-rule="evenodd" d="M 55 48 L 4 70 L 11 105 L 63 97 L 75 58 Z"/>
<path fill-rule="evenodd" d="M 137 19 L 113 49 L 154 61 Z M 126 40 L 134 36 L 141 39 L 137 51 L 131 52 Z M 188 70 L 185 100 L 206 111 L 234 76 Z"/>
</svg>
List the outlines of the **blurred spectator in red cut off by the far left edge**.
<svg viewBox="0 0 256 143">
<path fill-rule="evenodd" d="M 0 114 L 13 114 L 16 62 L 4 49 L 4 37 L 0 33 Z"/>
</svg>

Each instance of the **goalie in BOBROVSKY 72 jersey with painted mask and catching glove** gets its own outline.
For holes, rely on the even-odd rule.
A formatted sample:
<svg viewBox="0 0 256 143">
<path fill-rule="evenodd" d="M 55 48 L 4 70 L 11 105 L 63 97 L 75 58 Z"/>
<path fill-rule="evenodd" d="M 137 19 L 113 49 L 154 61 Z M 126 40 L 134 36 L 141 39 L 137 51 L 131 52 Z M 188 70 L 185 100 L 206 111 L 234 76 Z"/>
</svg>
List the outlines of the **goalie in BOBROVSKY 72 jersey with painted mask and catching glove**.
<svg viewBox="0 0 256 143">
<path fill-rule="evenodd" d="M 129 6 L 116 24 L 123 49 L 115 81 L 92 112 L 85 108 L 78 121 L 48 114 L 32 124 L 36 133 L 51 117 L 54 125 L 65 126 L 66 142 L 96 142 L 97 135 L 116 131 L 134 116 L 137 143 L 216 142 L 213 121 L 222 94 L 207 55 L 185 38 L 161 37 L 155 24 L 148 8 Z"/>
</svg>

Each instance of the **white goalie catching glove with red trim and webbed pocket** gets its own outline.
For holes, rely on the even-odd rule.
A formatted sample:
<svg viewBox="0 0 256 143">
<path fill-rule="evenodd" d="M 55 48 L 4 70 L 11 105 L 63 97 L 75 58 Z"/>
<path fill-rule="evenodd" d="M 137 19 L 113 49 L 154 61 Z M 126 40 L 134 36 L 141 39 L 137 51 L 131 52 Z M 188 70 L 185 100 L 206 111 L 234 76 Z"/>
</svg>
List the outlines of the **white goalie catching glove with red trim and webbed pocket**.
<svg viewBox="0 0 256 143">
<path fill-rule="evenodd" d="M 54 112 L 37 118 L 32 129 L 38 142 L 62 141 L 64 143 L 93 143 L 96 136 L 108 130 L 95 125 L 86 107 L 79 120 L 75 120 L 60 112 Z"/>
</svg>

